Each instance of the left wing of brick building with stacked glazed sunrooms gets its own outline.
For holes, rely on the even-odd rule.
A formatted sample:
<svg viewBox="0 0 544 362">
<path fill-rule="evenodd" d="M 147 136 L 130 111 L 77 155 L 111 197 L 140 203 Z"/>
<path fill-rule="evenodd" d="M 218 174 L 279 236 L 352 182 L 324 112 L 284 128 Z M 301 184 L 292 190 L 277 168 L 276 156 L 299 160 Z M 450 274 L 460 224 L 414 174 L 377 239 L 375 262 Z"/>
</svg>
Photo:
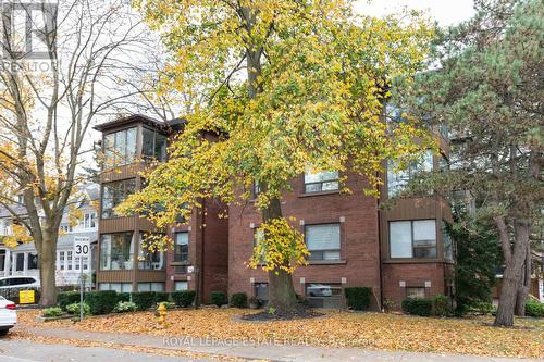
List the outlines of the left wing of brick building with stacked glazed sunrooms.
<svg viewBox="0 0 544 362">
<path fill-rule="evenodd" d="M 211 291 L 227 290 L 228 224 L 219 217 L 226 205 L 203 200 L 188 224 L 158 230 L 138 214 L 118 215 L 114 208 L 143 187 L 140 171 L 150 161 L 164 161 L 169 137 L 184 122 L 158 122 L 134 115 L 100 124 L 104 154 L 100 176 L 98 289 L 116 291 L 198 290 L 207 301 Z M 143 245 L 153 233 L 168 233 L 173 248 L 150 253 Z"/>
</svg>

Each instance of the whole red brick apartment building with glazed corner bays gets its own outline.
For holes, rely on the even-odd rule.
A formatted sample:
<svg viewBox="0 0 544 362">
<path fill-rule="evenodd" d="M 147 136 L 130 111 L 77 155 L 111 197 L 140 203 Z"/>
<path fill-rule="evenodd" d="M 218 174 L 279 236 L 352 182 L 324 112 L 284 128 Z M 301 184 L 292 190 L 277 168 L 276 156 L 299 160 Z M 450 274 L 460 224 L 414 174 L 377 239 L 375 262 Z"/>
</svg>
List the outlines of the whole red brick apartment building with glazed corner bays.
<svg viewBox="0 0 544 362">
<path fill-rule="evenodd" d="M 119 203 L 141 185 L 138 171 L 144 165 L 128 161 L 147 157 L 164 159 L 165 152 L 163 146 L 158 146 L 158 139 L 165 142 L 166 137 L 183 129 L 183 122 L 161 123 L 136 115 L 99 125 L 97 129 L 104 135 L 104 151 L 108 153 L 109 147 L 118 149 L 116 133 L 131 128 L 135 128 L 131 130 L 135 135 L 125 137 L 125 145 L 131 138 L 134 147 L 129 148 L 135 157 L 122 160 L 124 164 L 107 165 L 101 177 L 99 288 L 122 291 L 198 289 L 205 302 L 213 290 L 230 295 L 245 291 L 267 300 L 267 274 L 245 264 L 261 222 L 251 205 L 230 205 L 230 217 L 224 220 L 218 214 L 225 205 L 207 200 L 206 210 L 195 210 L 189 225 L 174 225 L 168 230 L 174 239 L 172 251 L 166 255 L 144 252 L 146 262 L 138 261 L 138 267 L 134 267 L 137 258 L 133 255 L 143 251 L 140 242 L 133 240 L 139 240 L 141 232 L 154 228 L 137 215 L 116 217 L 108 210 L 112 209 L 111 203 Z M 156 135 L 153 152 L 149 146 L 150 132 Z M 297 292 L 306 296 L 312 305 L 344 307 L 343 288 L 347 286 L 371 287 L 372 309 L 382 308 L 384 301 L 398 308 L 406 298 L 453 292 L 454 247 L 444 232 L 444 223 L 452 217 L 448 203 L 430 192 L 400 200 L 385 210 L 380 208 L 380 203 L 397 192 L 418 170 L 437 170 L 447 164 L 444 161 L 449 152 L 448 141 L 442 134 L 437 135 L 442 155 L 429 152 L 421 163 L 405 172 L 387 172 L 380 199 L 363 196 L 360 190 L 366 186 L 364 179 L 354 174 L 348 174 L 346 185 L 354 194 L 339 192 L 335 172 L 300 175 L 293 182 L 293 191 L 282 200 L 283 213 L 296 217 L 297 227 L 311 251 L 309 265 L 299 267 L 293 277 Z M 109 140 L 112 137 L 113 146 Z M 123 140 L 120 142 L 123 145 Z M 112 184 L 119 182 L 129 186 Z M 112 202 L 110 189 L 120 192 Z M 110 241 L 113 238 L 121 240 L 115 241 L 115 247 Z M 119 266 L 119 260 L 124 261 L 124 267 Z"/>
</svg>

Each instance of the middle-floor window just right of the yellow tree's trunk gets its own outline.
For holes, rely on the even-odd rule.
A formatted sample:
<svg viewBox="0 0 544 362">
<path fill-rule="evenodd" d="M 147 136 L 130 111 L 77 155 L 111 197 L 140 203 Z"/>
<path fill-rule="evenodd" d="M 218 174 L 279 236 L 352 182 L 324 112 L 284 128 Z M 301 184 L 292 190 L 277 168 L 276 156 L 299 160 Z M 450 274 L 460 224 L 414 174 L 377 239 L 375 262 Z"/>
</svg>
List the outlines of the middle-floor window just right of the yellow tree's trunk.
<svg viewBox="0 0 544 362">
<path fill-rule="evenodd" d="M 306 225 L 308 260 L 339 260 L 339 224 Z"/>
</svg>

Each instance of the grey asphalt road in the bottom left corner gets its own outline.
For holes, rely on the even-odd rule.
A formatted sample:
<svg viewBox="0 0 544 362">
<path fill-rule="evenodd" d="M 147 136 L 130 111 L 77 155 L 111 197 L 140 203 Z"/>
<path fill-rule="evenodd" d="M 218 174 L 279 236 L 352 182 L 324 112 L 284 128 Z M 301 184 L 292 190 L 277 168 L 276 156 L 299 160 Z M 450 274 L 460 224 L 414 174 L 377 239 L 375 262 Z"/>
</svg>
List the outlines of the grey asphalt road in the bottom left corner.
<svg viewBox="0 0 544 362">
<path fill-rule="evenodd" d="M 2 362 L 211 362 L 183 357 L 138 353 L 102 347 L 41 345 L 23 339 L 0 338 Z"/>
</svg>

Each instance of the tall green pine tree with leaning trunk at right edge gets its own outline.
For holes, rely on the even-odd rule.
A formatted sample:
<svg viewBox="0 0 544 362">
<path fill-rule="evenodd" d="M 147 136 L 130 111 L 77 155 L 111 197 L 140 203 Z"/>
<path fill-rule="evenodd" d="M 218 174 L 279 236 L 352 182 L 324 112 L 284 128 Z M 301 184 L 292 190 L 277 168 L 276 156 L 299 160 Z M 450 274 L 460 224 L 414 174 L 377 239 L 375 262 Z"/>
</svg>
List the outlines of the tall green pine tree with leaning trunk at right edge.
<svg viewBox="0 0 544 362">
<path fill-rule="evenodd" d="M 466 189 L 491 221 L 506 269 L 495 325 L 524 313 L 530 239 L 542 221 L 544 8 L 541 0 L 477 1 L 475 16 L 443 33 L 432 72 L 405 89 L 416 115 L 446 124 L 452 170 L 441 191 Z M 497 241 L 498 241 L 497 240 Z"/>
</svg>

